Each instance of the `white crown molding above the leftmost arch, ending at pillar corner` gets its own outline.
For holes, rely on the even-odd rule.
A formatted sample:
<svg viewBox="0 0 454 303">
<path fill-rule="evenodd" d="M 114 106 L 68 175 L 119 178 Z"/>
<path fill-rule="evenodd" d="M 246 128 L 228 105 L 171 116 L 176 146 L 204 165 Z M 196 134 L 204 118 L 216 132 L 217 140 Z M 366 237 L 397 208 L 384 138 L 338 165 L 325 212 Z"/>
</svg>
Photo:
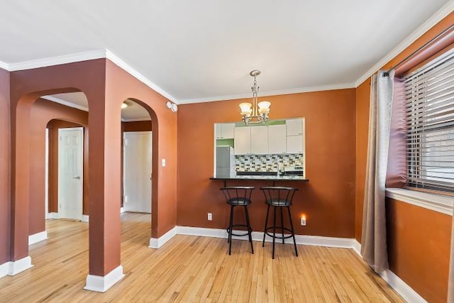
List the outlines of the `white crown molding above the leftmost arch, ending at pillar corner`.
<svg viewBox="0 0 454 303">
<path fill-rule="evenodd" d="M 72 62 L 81 62 L 87 60 L 101 59 L 106 57 L 106 50 L 91 50 L 89 52 L 76 53 L 70 55 L 61 55 L 55 57 L 48 57 L 37 60 L 9 63 L 9 71 L 14 72 L 17 70 L 31 70 L 33 68 L 48 67 L 53 65 L 62 65 Z"/>
</svg>

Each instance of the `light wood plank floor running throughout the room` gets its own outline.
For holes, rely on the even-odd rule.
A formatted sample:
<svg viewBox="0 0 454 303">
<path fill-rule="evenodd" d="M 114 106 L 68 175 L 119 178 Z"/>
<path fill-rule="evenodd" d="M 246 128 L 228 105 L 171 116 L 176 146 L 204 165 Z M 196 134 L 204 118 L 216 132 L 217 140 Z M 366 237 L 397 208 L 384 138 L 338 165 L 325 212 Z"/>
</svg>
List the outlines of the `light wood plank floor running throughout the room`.
<svg viewBox="0 0 454 303">
<path fill-rule="evenodd" d="M 175 236 L 148 248 L 150 215 L 123 214 L 126 276 L 106 293 L 83 290 L 88 224 L 49 220 L 49 239 L 31 246 L 35 265 L 0 279 L 0 302 L 403 302 L 353 250 Z"/>
</svg>

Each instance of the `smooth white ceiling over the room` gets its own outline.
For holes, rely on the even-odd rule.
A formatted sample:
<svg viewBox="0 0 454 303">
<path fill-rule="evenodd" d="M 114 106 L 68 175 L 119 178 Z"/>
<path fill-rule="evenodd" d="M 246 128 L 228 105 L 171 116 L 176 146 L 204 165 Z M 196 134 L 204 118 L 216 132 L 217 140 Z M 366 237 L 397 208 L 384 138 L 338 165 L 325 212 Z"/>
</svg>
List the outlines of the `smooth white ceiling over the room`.
<svg viewBox="0 0 454 303">
<path fill-rule="evenodd" d="M 0 67 L 109 50 L 178 103 L 248 96 L 254 69 L 262 71 L 259 95 L 355 87 L 453 7 L 453 0 L 0 0 Z"/>
</svg>

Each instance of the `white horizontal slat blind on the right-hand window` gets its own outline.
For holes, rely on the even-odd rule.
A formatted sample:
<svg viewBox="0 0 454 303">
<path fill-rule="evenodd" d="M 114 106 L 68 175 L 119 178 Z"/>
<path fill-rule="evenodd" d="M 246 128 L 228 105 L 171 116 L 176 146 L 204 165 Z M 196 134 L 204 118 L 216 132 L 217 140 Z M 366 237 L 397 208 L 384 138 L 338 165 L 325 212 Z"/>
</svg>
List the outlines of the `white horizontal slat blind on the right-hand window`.
<svg viewBox="0 0 454 303">
<path fill-rule="evenodd" d="M 454 54 L 404 83 L 408 185 L 454 192 Z"/>
</svg>

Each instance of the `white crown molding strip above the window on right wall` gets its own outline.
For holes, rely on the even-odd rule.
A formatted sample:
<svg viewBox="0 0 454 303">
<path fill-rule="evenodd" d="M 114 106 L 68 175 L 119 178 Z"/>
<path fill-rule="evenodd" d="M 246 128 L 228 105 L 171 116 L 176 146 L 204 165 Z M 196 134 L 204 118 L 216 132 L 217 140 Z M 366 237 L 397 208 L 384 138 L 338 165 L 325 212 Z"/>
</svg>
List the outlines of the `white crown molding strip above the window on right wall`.
<svg viewBox="0 0 454 303">
<path fill-rule="evenodd" d="M 399 43 L 394 50 L 388 53 L 388 55 L 384 56 L 382 60 L 377 62 L 374 66 L 370 68 L 364 75 L 360 77 L 360 79 L 356 80 L 355 87 L 359 87 L 362 82 L 365 82 L 367 78 L 374 75 L 375 72 L 380 70 L 387 62 L 391 61 L 402 53 L 406 48 L 408 48 L 411 43 L 414 43 L 416 39 L 421 37 L 424 33 L 426 33 L 429 29 L 433 28 L 438 22 L 440 22 L 443 18 L 448 16 L 452 11 L 454 11 L 454 0 L 449 1 L 445 6 L 443 6 L 440 10 L 438 10 L 431 18 L 429 18 L 426 22 L 423 23 L 422 26 L 416 29 L 411 35 L 409 35 L 402 43 Z"/>
</svg>

